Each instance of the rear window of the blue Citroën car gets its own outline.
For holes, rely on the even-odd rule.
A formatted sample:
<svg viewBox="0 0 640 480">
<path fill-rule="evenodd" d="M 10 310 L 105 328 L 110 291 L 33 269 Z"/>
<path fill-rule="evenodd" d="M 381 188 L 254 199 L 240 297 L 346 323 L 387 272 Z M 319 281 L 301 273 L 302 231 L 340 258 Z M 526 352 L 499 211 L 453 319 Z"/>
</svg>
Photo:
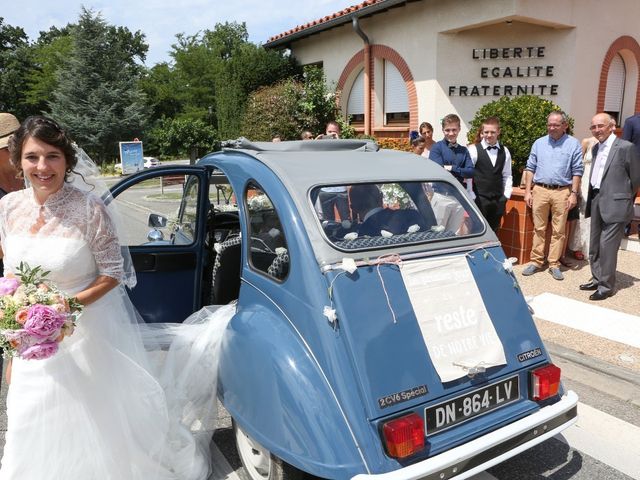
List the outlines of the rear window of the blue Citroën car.
<svg viewBox="0 0 640 480">
<path fill-rule="evenodd" d="M 469 198 L 446 182 L 316 187 L 311 202 L 324 234 L 341 250 L 440 241 L 485 229 Z"/>
</svg>

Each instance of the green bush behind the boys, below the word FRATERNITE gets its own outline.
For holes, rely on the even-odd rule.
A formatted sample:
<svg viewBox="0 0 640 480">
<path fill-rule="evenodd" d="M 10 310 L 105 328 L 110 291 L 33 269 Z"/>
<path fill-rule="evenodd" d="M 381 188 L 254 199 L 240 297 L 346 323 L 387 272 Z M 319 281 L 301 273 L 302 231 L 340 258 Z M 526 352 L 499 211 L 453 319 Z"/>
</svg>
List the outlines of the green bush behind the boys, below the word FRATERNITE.
<svg viewBox="0 0 640 480">
<path fill-rule="evenodd" d="M 500 142 L 506 145 L 513 159 L 514 184 L 518 185 L 527 164 L 533 142 L 547 134 L 547 117 L 554 110 L 562 110 L 550 100 L 535 95 L 502 97 L 480 107 L 476 112 L 467 140 L 474 141 L 482 120 L 487 117 L 500 119 Z M 570 129 L 573 119 L 569 118 Z"/>
</svg>

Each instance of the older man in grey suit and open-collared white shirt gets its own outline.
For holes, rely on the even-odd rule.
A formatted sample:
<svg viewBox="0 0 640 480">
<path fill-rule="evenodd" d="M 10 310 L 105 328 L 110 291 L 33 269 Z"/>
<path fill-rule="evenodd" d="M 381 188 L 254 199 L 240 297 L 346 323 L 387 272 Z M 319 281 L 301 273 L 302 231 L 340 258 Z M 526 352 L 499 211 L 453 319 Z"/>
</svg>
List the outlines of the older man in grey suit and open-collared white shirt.
<svg viewBox="0 0 640 480">
<path fill-rule="evenodd" d="M 618 249 L 624 227 L 633 216 L 633 199 L 640 186 L 640 155 L 633 143 L 617 138 L 606 113 L 591 119 L 593 147 L 586 217 L 591 217 L 589 262 L 591 280 L 580 290 L 595 290 L 589 300 L 614 294 Z"/>
</svg>

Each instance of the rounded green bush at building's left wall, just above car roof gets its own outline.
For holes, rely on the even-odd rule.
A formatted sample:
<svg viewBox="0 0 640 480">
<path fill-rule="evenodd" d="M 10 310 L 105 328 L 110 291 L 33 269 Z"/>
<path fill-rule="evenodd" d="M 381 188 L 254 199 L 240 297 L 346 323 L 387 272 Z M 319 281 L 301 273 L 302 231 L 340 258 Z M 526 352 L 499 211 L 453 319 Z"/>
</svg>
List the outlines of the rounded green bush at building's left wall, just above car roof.
<svg viewBox="0 0 640 480">
<path fill-rule="evenodd" d="M 306 67 L 302 80 L 288 78 L 250 95 L 242 134 L 252 140 L 271 140 L 275 135 L 283 140 L 299 140 L 303 130 L 324 132 L 327 122 L 336 119 L 337 113 L 335 95 L 322 70 Z M 343 125 L 346 127 L 345 122 Z"/>
</svg>

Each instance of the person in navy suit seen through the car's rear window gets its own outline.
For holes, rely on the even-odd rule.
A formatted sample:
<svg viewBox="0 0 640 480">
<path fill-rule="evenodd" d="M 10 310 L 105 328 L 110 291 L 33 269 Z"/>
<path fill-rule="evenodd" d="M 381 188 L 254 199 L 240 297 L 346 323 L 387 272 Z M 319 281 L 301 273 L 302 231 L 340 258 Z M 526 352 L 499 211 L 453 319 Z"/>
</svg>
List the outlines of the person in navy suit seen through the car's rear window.
<svg viewBox="0 0 640 480">
<path fill-rule="evenodd" d="M 412 225 L 426 229 L 426 222 L 416 210 L 392 210 L 382 205 L 382 192 L 376 185 L 354 185 L 349 190 L 351 210 L 360 221 L 359 235 L 379 237 L 382 230 L 394 235 L 407 233 Z"/>
</svg>

